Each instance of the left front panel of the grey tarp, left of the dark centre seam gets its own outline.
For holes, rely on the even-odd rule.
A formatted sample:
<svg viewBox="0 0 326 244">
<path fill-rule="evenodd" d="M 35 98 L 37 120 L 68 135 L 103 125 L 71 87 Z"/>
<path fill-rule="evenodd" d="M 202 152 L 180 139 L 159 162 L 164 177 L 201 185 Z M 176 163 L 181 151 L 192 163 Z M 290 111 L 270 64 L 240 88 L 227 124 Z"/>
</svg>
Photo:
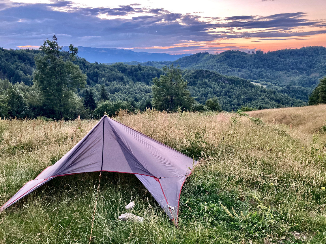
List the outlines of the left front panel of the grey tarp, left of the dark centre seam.
<svg viewBox="0 0 326 244">
<path fill-rule="evenodd" d="M 103 119 L 80 142 L 52 166 L 52 176 L 101 170 Z"/>
</svg>

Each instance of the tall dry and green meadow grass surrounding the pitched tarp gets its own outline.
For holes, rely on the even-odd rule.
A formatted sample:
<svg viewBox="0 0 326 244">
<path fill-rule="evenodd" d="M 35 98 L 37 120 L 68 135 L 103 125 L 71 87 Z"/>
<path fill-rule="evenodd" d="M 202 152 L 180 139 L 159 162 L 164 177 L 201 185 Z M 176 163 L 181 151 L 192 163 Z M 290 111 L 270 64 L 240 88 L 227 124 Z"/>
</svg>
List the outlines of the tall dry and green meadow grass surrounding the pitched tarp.
<svg viewBox="0 0 326 244">
<path fill-rule="evenodd" d="M 179 228 L 134 175 L 103 173 L 92 242 L 326 243 L 324 132 L 296 136 L 304 123 L 315 123 L 308 115 L 291 130 L 281 120 L 273 124 L 283 111 L 248 112 L 264 123 L 233 113 L 118 114 L 116 120 L 200 163 L 181 192 Z M 0 204 L 96 122 L 0 120 Z M 98 177 L 57 177 L 1 212 L 0 243 L 88 243 Z M 130 200 L 143 224 L 117 220 Z"/>
</svg>

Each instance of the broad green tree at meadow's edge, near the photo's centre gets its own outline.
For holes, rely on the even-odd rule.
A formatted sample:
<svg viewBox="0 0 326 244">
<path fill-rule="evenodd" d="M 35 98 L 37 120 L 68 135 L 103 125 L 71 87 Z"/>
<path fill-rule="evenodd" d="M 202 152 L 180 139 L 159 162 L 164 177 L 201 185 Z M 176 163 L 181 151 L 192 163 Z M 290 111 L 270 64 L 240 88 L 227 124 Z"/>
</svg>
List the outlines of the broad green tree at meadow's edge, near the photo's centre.
<svg viewBox="0 0 326 244">
<path fill-rule="evenodd" d="M 187 81 L 182 78 L 180 67 L 174 67 L 172 63 L 163 70 L 166 75 L 161 75 L 159 79 L 153 78 L 154 107 L 168 112 L 175 112 L 179 107 L 182 110 L 190 110 L 195 100 L 187 89 Z"/>
</svg>

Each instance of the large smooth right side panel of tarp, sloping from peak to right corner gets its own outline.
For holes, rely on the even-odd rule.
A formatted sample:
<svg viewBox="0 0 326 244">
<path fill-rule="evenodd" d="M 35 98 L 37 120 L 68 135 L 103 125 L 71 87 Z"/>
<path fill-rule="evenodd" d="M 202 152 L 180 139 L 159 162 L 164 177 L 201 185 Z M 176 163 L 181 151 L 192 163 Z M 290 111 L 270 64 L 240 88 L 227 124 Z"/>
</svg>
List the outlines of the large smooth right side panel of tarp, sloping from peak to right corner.
<svg viewBox="0 0 326 244">
<path fill-rule="evenodd" d="M 122 143 L 155 177 L 182 177 L 190 173 L 193 159 L 160 143 L 154 139 L 133 130 L 123 124 L 108 118 L 112 128 L 122 140 Z M 195 164 L 197 162 L 195 161 Z"/>
</svg>

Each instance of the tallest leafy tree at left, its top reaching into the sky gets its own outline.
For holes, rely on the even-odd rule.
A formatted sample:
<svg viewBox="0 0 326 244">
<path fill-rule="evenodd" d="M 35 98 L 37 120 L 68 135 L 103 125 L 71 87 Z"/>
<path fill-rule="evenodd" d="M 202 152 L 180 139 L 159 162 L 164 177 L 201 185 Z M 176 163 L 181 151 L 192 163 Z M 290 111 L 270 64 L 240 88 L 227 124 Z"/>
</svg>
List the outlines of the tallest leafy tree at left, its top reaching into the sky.
<svg viewBox="0 0 326 244">
<path fill-rule="evenodd" d="M 44 99 L 44 113 L 55 119 L 69 117 L 76 109 L 74 106 L 80 107 L 81 103 L 74 91 L 86 84 L 86 75 L 82 74 L 78 65 L 72 63 L 78 48 L 70 44 L 69 51 L 63 51 L 57 43 L 57 37 L 53 35 L 52 40 L 46 39 L 39 49 L 44 55 L 35 57 L 34 82 Z"/>
</svg>

